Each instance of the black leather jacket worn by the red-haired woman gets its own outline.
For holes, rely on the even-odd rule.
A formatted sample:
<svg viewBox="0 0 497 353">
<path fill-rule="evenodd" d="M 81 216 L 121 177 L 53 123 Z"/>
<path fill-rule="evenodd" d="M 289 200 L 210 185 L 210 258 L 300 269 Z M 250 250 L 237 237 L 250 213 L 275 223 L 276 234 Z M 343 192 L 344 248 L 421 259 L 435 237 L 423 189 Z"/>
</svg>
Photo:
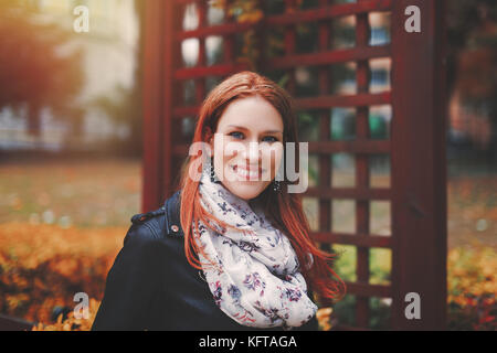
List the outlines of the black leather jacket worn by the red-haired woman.
<svg viewBox="0 0 497 353">
<path fill-rule="evenodd" d="M 162 207 L 131 217 L 92 330 L 261 330 L 221 311 L 187 261 L 179 205 L 178 191 Z M 316 317 L 293 330 L 318 330 Z"/>
</svg>

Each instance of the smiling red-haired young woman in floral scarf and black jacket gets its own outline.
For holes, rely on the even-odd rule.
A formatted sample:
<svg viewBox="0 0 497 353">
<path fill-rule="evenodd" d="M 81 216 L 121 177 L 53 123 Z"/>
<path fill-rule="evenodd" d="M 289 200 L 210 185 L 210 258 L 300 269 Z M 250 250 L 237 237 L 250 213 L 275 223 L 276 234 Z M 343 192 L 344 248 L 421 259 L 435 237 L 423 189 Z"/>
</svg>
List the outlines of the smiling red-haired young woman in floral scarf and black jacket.
<svg viewBox="0 0 497 353">
<path fill-rule="evenodd" d="M 298 139 L 284 89 L 252 72 L 216 86 L 178 191 L 131 218 L 92 329 L 317 330 L 313 292 L 339 299 L 345 285 L 276 178 L 286 142 Z"/>
</svg>

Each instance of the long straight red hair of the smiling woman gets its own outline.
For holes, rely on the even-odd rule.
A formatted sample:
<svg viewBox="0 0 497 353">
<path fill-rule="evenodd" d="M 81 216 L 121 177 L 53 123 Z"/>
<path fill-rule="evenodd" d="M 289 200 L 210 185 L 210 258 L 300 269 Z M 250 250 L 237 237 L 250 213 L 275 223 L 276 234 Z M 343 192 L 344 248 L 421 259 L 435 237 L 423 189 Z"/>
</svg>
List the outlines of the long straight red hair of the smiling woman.
<svg viewBox="0 0 497 353">
<path fill-rule="evenodd" d="M 218 121 L 228 105 L 235 99 L 250 96 L 261 96 L 277 109 L 284 124 L 283 143 L 285 146 L 285 142 L 295 142 L 298 151 L 297 119 L 290 96 L 273 81 L 253 72 L 232 75 L 210 92 L 200 109 L 192 143 L 208 142 L 212 133 L 216 131 Z M 298 165 L 298 153 L 295 154 L 295 165 Z M 194 236 L 199 234 L 197 231 L 199 222 L 208 227 L 211 227 L 211 222 L 215 222 L 221 227 L 231 226 L 208 213 L 200 204 L 199 181 L 189 178 L 189 170 L 201 165 L 199 158 L 202 156 L 187 158 L 181 170 L 179 189 L 181 189 L 180 222 L 184 232 L 186 256 L 191 266 L 201 269 L 202 264 L 197 254 L 200 252 L 205 258 L 208 257 L 194 240 Z M 346 292 L 346 286 L 331 268 L 335 254 L 319 249 L 310 239 L 310 227 L 303 211 L 300 194 L 288 193 L 289 183 L 287 180 L 281 181 L 278 192 L 274 192 L 268 186 L 257 199 L 265 205 L 265 214 L 272 220 L 273 225 L 286 234 L 290 240 L 299 264 L 303 265 L 300 272 L 306 278 L 310 290 L 317 292 L 325 302 L 341 299 Z M 193 224 L 197 229 L 193 229 Z M 308 254 L 311 254 L 311 263 L 309 263 Z"/>
</svg>

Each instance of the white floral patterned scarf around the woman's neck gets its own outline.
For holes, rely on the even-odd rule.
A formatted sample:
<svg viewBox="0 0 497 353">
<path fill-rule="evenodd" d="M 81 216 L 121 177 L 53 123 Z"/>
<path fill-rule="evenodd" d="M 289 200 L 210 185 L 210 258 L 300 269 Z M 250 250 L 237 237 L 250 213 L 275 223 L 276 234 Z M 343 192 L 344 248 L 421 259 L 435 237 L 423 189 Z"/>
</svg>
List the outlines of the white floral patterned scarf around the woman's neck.
<svg viewBox="0 0 497 353">
<path fill-rule="evenodd" d="M 203 172 L 199 191 L 202 206 L 239 232 L 199 224 L 195 240 L 216 265 L 202 266 L 218 307 L 240 324 L 290 330 L 309 321 L 317 307 L 307 296 L 307 285 L 290 242 L 274 228 L 261 210 L 211 181 Z M 193 227 L 194 229 L 195 227 Z M 202 264 L 209 263 L 199 253 Z"/>
</svg>

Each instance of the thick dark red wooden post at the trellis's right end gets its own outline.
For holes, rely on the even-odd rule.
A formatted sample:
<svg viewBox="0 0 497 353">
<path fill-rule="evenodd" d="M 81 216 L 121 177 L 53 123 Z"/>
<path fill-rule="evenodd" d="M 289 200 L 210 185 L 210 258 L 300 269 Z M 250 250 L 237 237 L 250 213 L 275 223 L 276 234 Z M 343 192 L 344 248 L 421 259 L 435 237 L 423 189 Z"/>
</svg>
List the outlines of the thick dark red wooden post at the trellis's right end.
<svg viewBox="0 0 497 353">
<path fill-rule="evenodd" d="M 403 30 L 421 10 L 421 33 Z M 444 1 L 398 0 L 392 18 L 392 328 L 441 330 L 446 322 L 446 97 Z M 404 315 L 421 297 L 421 319 Z"/>
</svg>

